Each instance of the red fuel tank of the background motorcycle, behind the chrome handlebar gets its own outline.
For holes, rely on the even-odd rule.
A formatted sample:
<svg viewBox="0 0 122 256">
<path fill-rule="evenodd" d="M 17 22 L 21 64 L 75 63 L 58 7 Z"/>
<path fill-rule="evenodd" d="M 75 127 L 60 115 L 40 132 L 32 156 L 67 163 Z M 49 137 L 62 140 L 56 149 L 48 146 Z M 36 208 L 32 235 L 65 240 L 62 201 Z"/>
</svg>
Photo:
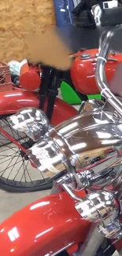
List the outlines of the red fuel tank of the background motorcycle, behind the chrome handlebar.
<svg viewBox="0 0 122 256">
<path fill-rule="evenodd" d="M 97 95 L 99 89 L 94 78 L 98 49 L 79 50 L 72 63 L 71 77 L 76 89 L 84 95 Z M 113 80 L 116 66 L 122 62 L 122 54 L 111 51 L 105 64 L 108 82 Z"/>
</svg>

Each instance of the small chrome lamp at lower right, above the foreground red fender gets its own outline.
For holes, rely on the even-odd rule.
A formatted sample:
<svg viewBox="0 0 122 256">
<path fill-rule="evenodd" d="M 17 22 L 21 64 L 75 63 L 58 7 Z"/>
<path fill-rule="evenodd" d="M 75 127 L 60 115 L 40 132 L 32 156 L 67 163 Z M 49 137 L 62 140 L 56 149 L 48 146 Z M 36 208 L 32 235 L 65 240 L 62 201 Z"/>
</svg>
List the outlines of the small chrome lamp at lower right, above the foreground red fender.
<svg viewBox="0 0 122 256">
<path fill-rule="evenodd" d="M 119 217 L 119 203 L 116 196 L 108 191 L 95 191 L 88 194 L 83 202 L 76 204 L 81 216 L 91 222 L 97 222 L 99 232 L 109 239 L 122 236 Z"/>
</svg>

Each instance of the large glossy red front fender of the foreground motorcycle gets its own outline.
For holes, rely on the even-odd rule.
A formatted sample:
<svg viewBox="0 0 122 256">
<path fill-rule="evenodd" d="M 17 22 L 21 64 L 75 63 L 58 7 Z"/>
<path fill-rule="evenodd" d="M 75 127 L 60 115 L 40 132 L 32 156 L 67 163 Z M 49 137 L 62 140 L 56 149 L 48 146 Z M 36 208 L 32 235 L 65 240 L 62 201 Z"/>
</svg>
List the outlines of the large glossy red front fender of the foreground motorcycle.
<svg viewBox="0 0 122 256">
<path fill-rule="evenodd" d="M 14 213 L 0 225 L 0 254 L 52 255 L 69 243 L 82 243 L 90 223 L 81 219 L 74 205 L 74 200 L 61 192 Z"/>
</svg>

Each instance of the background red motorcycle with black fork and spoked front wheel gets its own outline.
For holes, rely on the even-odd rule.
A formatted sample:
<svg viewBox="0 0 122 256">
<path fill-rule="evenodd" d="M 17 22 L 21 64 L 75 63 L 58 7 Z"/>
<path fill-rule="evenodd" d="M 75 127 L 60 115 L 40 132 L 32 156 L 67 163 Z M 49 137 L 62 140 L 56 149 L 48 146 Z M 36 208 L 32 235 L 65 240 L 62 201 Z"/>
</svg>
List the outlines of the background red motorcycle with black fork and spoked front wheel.
<svg viewBox="0 0 122 256">
<path fill-rule="evenodd" d="M 53 126 L 75 117 L 79 111 L 57 98 L 57 87 L 60 87 L 61 80 L 67 80 L 79 97 L 85 101 L 86 95 L 98 94 L 99 89 L 94 77 L 97 56 L 98 49 L 79 50 L 77 54 L 73 54 L 71 77 L 69 72 L 61 72 L 41 65 L 43 73 L 40 79 L 39 69 L 29 69 L 28 65 L 24 65 L 20 72 L 22 88 L 17 90 L 17 87 L 14 87 L 14 91 L 1 93 L 1 188 L 7 191 L 38 191 L 52 187 L 53 180 L 39 173 L 28 159 L 26 150 L 33 145 L 33 141 L 24 133 L 10 128 L 6 117 L 24 107 L 43 109 Z M 113 80 L 116 66 L 121 62 L 122 54 L 109 53 L 105 65 L 105 74 L 109 82 Z"/>
</svg>

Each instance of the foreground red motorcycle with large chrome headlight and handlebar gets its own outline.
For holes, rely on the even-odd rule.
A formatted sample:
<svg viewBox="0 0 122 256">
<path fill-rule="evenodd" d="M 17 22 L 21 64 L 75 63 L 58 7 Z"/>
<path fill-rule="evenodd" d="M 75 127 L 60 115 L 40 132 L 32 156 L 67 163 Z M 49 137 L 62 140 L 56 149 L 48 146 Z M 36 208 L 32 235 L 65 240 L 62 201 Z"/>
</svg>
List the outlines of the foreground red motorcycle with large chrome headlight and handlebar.
<svg viewBox="0 0 122 256">
<path fill-rule="evenodd" d="M 89 100 L 79 116 L 56 128 L 35 108 L 9 117 L 9 124 L 31 139 L 43 135 L 27 150 L 28 158 L 40 172 L 58 178 L 50 196 L 0 225 L 2 256 L 110 256 L 122 247 L 122 103 L 110 91 L 104 72 L 116 29 L 120 27 L 105 36 L 95 69 L 107 103 Z"/>
</svg>

